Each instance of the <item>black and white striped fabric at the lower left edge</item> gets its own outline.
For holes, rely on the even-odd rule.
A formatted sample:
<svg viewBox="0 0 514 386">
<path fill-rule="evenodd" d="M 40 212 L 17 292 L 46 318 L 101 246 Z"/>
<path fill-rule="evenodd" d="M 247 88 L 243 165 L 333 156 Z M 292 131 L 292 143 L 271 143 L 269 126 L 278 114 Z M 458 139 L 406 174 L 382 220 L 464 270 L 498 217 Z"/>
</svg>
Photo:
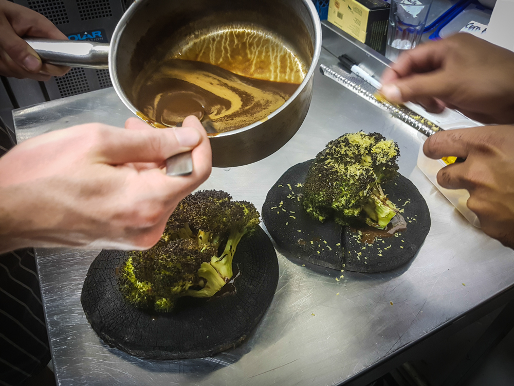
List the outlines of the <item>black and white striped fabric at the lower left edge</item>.
<svg viewBox="0 0 514 386">
<path fill-rule="evenodd" d="M 0 156 L 13 146 L 0 120 Z M 20 385 L 50 360 L 32 249 L 0 255 L 0 385 Z"/>
</svg>

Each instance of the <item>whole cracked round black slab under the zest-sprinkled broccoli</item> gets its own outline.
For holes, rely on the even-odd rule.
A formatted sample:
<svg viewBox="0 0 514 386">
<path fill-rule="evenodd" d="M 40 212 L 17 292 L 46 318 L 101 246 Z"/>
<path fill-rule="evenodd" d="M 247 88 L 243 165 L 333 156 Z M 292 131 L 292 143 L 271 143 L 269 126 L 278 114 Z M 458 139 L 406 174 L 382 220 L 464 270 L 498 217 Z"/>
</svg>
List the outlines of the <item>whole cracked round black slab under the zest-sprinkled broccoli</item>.
<svg viewBox="0 0 514 386">
<path fill-rule="evenodd" d="M 410 180 L 398 174 L 394 181 L 382 184 L 391 201 L 403 209 L 401 214 L 407 221 L 407 230 L 399 232 L 398 237 L 365 244 L 358 242 L 360 235 L 350 227 L 333 221 L 321 223 L 304 212 L 298 200 L 303 188 L 297 184 L 305 182 L 312 161 L 289 168 L 266 196 L 263 222 L 280 247 L 319 266 L 356 272 L 389 271 L 414 257 L 430 231 L 430 212 L 425 199 Z M 283 203 L 281 206 L 280 202 Z M 291 211 L 295 213 L 291 214 Z M 386 249 L 389 245 L 391 247 Z"/>
</svg>

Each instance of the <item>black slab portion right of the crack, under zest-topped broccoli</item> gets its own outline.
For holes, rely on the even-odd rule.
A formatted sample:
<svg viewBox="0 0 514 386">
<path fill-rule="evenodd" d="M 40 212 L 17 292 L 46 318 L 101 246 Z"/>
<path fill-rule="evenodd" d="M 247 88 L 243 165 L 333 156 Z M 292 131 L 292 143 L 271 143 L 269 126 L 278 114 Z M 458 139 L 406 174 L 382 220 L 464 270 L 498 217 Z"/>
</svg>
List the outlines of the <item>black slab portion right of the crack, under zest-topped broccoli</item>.
<svg viewBox="0 0 514 386">
<path fill-rule="evenodd" d="M 407 230 L 398 232 L 398 237 L 378 238 L 373 244 L 366 244 L 359 242 L 356 230 L 345 226 L 343 244 L 348 271 L 383 272 L 400 267 L 414 257 L 430 231 L 427 203 L 409 179 L 398 174 L 394 181 L 382 184 L 382 188 L 389 200 L 403 209 L 401 215 L 407 222 Z"/>
</svg>

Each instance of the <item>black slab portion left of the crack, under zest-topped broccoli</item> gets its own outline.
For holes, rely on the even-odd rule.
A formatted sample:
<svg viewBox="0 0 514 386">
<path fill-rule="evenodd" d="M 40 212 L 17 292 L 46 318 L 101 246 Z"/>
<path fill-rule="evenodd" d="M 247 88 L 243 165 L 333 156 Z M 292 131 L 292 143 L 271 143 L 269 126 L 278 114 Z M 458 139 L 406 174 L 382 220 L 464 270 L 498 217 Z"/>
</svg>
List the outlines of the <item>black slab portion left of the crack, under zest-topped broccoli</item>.
<svg viewBox="0 0 514 386">
<path fill-rule="evenodd" d="M 340 270 L 344 263 L 341 225 L 334 221 L 314 220 L 298 200 L 303 187 L 297 184 L 305 182 L 311 162 L 292 166 L 282 174 L 266 196 L 262 220 L 273 240 L 286 251 L 312 264 Z M 283 202 L 282 206 L 279 206 L 280 202 Z"/>
</svg>

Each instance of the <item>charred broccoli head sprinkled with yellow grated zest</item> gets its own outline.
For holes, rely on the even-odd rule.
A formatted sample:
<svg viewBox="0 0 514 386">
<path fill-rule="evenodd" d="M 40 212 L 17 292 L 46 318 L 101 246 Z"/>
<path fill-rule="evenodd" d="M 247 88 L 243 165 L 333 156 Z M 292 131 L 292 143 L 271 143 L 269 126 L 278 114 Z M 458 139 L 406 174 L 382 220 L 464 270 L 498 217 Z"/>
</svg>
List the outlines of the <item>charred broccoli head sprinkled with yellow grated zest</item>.
<svg viewBox="0 0 514 386">
<path fill-rule="evenodd" d="M 329 142 L 310 166 L 303 206 L 313 218 L 341 225 L 364 220 L 384 229 L 398 212 L 380 186 L 396 176 L 398 145 L 379 133 L 345 134 Z"/>
</svg>

